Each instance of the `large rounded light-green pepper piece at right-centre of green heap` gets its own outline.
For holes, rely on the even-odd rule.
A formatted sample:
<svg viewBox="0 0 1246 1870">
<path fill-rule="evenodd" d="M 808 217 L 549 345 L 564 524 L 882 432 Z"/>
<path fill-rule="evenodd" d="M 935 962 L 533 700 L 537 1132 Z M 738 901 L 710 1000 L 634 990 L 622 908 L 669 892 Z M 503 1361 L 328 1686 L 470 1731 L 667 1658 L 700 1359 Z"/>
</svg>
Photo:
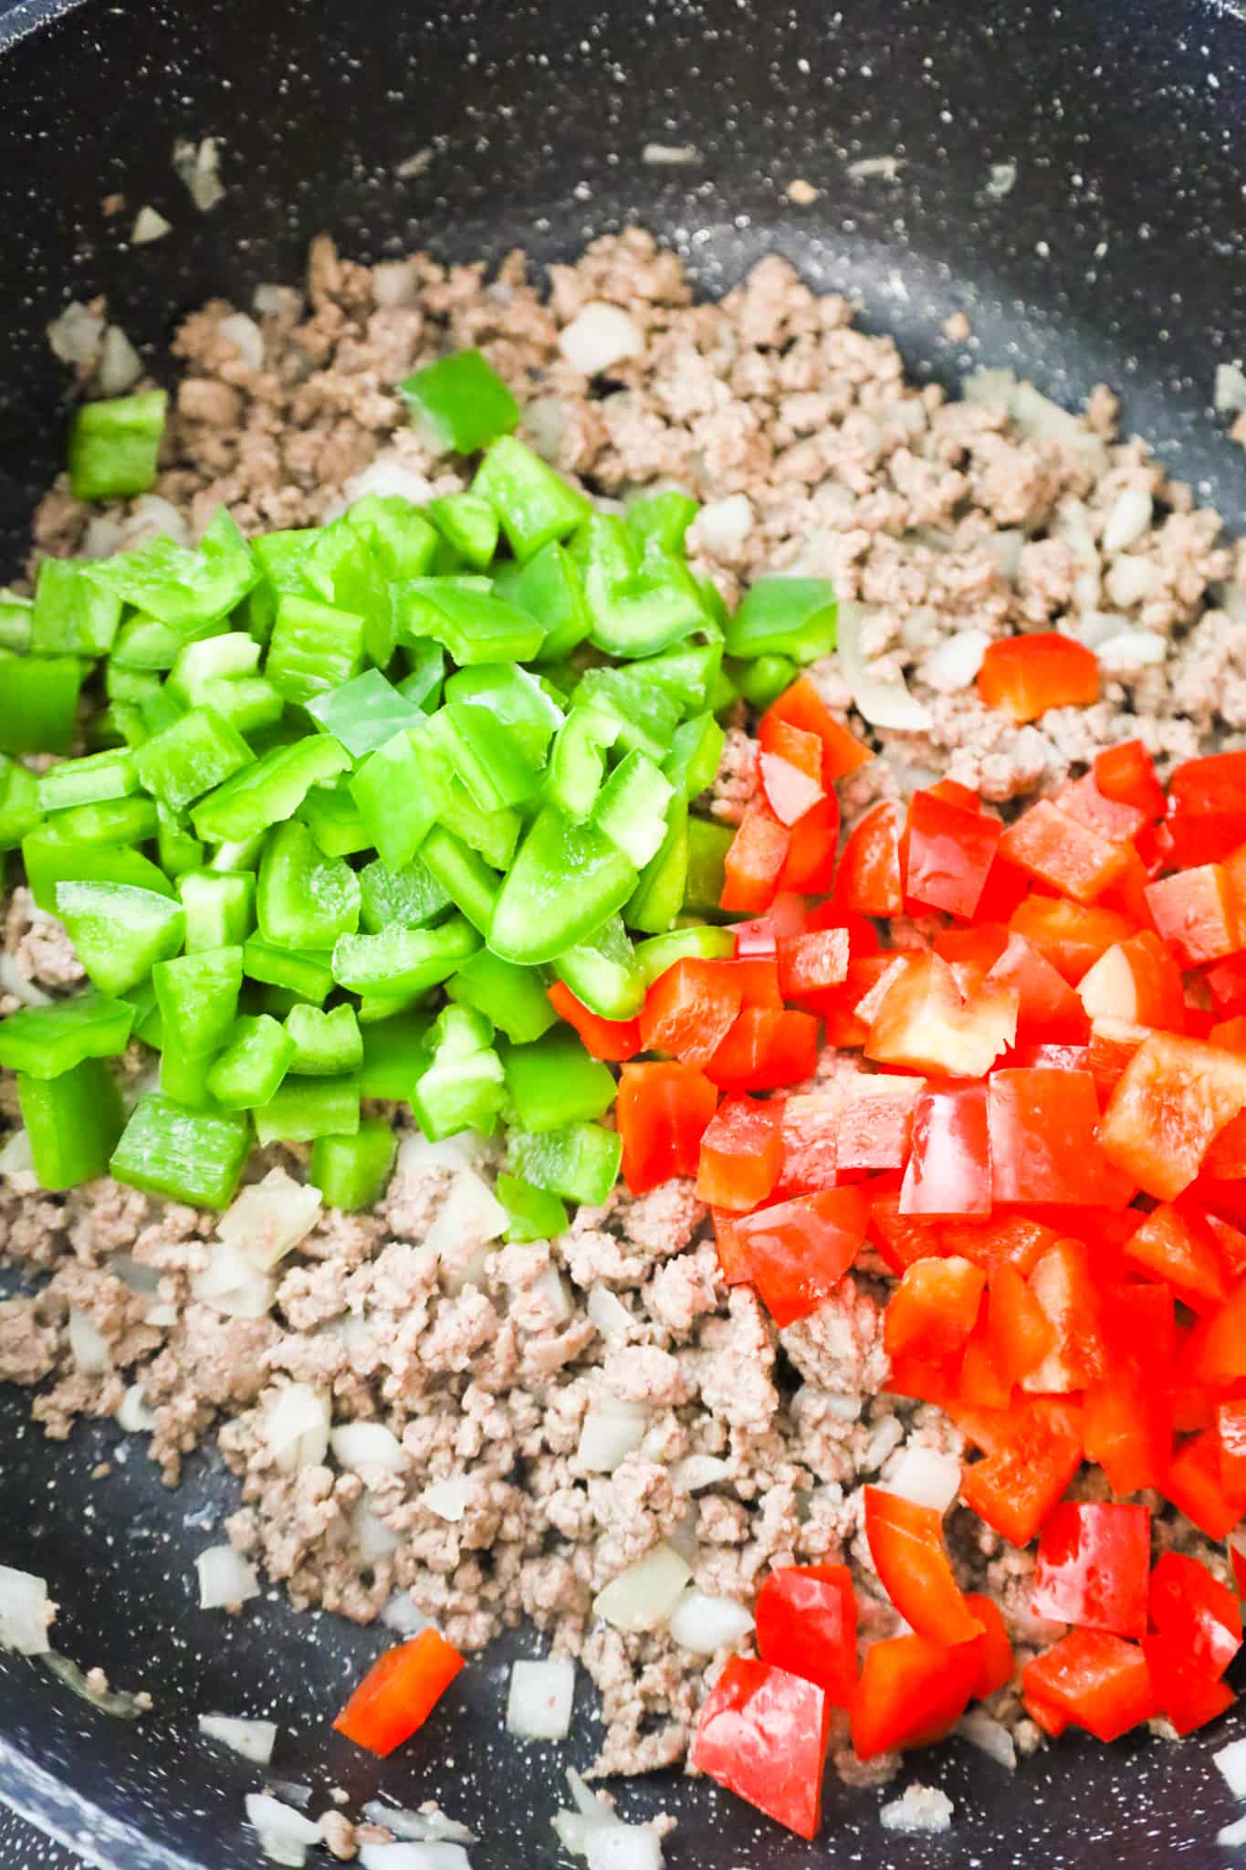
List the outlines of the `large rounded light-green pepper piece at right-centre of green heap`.
<svg viewBox="0 0 1246 1870">
<path fill-rule="evenodd" d="M 497 892 L 489 948 L 504 961 L 553 961 L 622 909 L 635 883 L 618 845 L 544 806 Z"/>
</svg>

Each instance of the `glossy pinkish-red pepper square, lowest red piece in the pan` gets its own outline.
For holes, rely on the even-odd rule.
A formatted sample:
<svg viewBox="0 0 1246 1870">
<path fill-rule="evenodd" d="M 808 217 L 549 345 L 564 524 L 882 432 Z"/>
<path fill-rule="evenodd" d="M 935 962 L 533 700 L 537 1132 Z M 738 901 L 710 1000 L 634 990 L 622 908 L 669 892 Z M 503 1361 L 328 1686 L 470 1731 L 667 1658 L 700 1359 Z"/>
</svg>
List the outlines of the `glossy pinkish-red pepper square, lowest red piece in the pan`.
<svg viewBox="0 0 1246 1870">
<path fill-rule="evenodd" d="M 813 1838 L 829 1722 L 831 1704 L 816 1683 L 734 1655 L 701 1709 L 689 1758 L 758 1812 Z"/>
</svg>

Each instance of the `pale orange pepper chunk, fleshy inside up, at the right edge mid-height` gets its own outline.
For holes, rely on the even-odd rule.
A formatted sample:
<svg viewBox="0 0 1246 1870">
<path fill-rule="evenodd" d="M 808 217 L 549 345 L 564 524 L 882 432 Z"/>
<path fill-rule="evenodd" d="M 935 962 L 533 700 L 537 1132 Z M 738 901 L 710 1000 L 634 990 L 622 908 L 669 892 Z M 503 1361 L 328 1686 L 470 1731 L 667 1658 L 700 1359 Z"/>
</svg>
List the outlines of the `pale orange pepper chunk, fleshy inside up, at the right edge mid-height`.
<svg viewBox="0 0 1246 1870">
<path fill-rule="evenodd" d="M 1098 1141 L 1147 1195 L 1173 1201 L 1194 1182 L 1216 1131 L 1244 1105 L 1246 1058 L 1153 1032 L 1111 1092 Z"/>
</svg>

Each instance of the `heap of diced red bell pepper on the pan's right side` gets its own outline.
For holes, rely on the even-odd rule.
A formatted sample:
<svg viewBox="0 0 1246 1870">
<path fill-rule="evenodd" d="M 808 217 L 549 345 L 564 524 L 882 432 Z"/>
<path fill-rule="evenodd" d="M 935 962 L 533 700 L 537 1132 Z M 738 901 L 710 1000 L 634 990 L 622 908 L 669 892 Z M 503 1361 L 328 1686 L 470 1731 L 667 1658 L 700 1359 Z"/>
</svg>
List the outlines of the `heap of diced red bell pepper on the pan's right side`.
<svg viewBox="0 0 1246 1870">
<path fill-rule="evenodd" d="M 882 1257 L 889 1388 L 951 1414 L 981 1457 L 962 1502 L 1039 1539 L 1033 1608 L 1072 1625 L 1022 1670 L 1029 1715 L 1190 1732 L 1233 1700 L 1235 1595 L 1175 1552 L 1151 1571 L 1145 1505 L 1063 1494 L 1091 1460 L 1209 1539 L 1246 1511 L 1246 754 L 1166 795 L 1130 741 L 1007 827 L 943 782 L 876 804 L 837 862 L 833 782 L 869 750 L 807 677 L 758 739 L 734 957 L 680 961 L 626 1025 L 560 1008 L 598 1057 L 671 1055 L 622 1066 L 624 1178 L 695 1176 L 727 1281 L 781 1328 Z M 893 916 L 927 933 L 882 952 Z M 820 1036 L 874 1070 L 818 1083 Z M 865 1530 L 912 1634 L 857 1672 L 848 1571 L 772 1573 L 760 1659 L 727 1666 L 693 1747 L 805 1836 L 833 1707 L 872 1758 L 1014 1674 L 938 1511 L 869 1489 Z"/>
</svg>

